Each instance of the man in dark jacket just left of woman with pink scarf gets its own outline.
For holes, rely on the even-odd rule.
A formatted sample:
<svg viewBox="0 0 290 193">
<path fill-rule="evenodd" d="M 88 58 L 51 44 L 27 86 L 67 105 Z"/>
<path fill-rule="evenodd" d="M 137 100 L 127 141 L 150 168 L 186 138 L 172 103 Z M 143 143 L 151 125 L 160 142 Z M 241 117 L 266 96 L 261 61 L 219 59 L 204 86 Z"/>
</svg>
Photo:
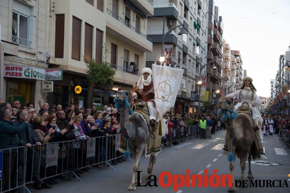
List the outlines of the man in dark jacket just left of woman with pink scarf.
<svg viewBox="0 0 290 193">
<path fill-rule="evenodd" d="M 68 120 L 66 120 L 66 114 L 62 110 L 57 111 L 55 116 L 57 117 L 56 124 L 58 128 L 60 130 L 63 130 L 64 128 L 68 129 L 68 131 L 64 134 L 65 140 L 75 139 L 75 135 L 73 134 L 73 123 L 75 121 L 72 119 L 68 122 Z M 75 148 L 69 143 L 66 143 L 65 145 L 68 149 L 68 169 L 73 172 L 78 171 L 78 169 L 75 168 Z"/>
</svg>

